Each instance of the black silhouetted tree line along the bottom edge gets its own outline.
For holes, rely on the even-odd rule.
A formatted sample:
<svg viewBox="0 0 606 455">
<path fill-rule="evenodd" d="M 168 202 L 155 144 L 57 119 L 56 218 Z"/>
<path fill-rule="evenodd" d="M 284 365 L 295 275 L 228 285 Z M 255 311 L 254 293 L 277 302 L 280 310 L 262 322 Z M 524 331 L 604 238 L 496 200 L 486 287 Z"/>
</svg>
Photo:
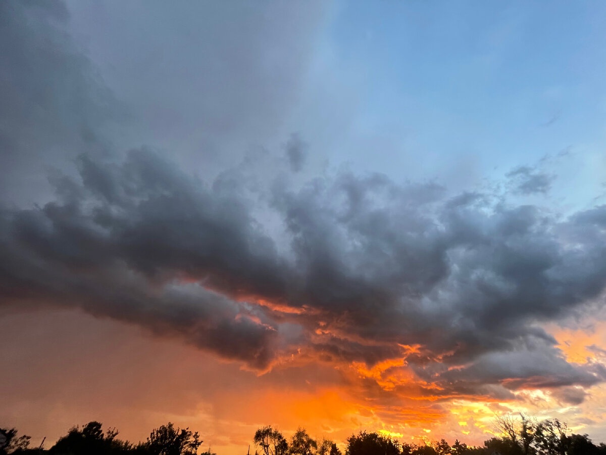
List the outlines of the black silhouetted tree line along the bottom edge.
<svg viewBox="0 0 606 455">
<path fill-rule="evenodd" d="M 499 417 L 496 426 L 503 436 L 492 437 L 482 447 L 472 447 L 455 440 L 410 444 L 379 433 L 361 431 L 345 441 L 345 455 L 606 455 L 606 444 L 595 445 L 587 434 L 574 434 L 559 421 Z M 195 455 L 202 445 L 198 432 L 175 428 L 172 423 L 151 431 L 144 442 L 130 443 L 118 439 L 118 431 L 103 431 L 101 423 L 90 422 L 71 428 L 48 450 L 30 447 L 29 436 L 0 428 L 0 455 Z M 343 455 L 330 439 L 312 439 L 304 428 L 298 428 L 290 440 L 264 426 L 253 437 L 255 455 Z M 216 455 L 204 452 L 200 455 Z M 242 454 L 244 455 L 244 454 Z"/>
</svg>

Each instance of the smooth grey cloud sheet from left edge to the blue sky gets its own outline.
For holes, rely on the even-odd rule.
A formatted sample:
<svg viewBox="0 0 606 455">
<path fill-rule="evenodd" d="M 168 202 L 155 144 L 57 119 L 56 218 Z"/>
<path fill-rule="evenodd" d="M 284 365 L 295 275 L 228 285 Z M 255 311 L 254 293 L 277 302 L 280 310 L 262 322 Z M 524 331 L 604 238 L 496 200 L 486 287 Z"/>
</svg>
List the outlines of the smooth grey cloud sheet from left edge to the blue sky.
<svg viewBox="0 0 606 455">
<path fill-rule="evenodd" d="M 47 169 L 67 172 L 82 152 L 151 143 L 214 177 L 281 140 L 327 10 L 2 2 L 2 201 L 47 201 Z"/>
</svg>

